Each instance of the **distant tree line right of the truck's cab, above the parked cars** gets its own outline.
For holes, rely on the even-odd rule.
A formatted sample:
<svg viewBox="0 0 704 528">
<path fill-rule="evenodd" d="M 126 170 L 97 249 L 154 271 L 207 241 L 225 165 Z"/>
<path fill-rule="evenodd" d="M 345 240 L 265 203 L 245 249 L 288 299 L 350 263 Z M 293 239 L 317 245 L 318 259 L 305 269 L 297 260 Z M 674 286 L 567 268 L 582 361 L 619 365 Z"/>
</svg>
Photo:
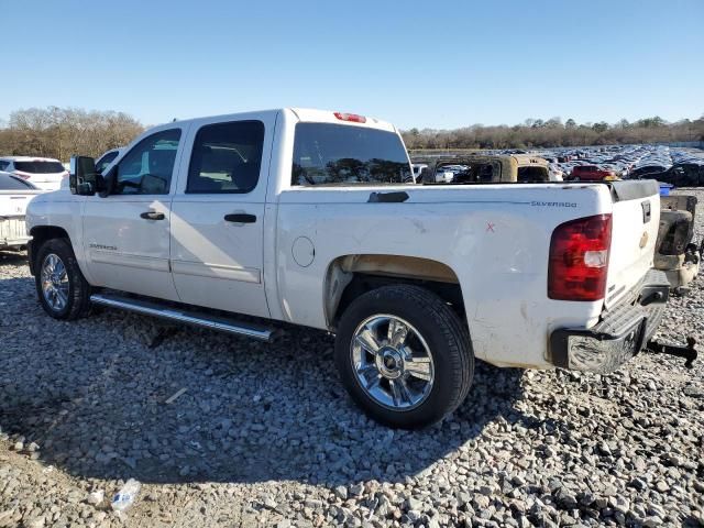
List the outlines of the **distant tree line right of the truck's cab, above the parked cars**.
<svg viewBox="0 0 704 528">
<path fill-rule="evenodd" d="M 704 141 L 704 116 L 694 121 L 669 123 L 662 118 L 618 123 L 564 123 L 560 118 L 547 121 L 527 119 L 514 127 L 473 124 L 455 130 L 410 129 L 402 131 L 406 146 L 418 148 L 534 148 L 580 145 L 610 145 Z"/>
</svg>

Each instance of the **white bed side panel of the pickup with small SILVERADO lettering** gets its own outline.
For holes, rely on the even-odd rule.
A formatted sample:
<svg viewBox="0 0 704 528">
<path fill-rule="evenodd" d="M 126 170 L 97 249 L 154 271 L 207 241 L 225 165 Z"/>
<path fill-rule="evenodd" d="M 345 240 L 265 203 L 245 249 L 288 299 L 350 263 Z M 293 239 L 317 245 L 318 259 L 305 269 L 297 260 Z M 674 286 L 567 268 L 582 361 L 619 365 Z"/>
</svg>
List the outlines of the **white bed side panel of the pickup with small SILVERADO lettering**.
<svg viewBox="0 0 704 528">
<path fill-rule="evenodd" d="M 372 191 L 405 190 L 403 204 L 370 204 Z M 464 298 L 477 358 L 503 366 L 549 366 L 547 340 L 558 327 L 588 327 L 602 302 L 547 297 L 556 226 L 610 212 L 606 186 L 302 188 L 283 191 L 277 211 L 276 282 L 283 319 L 329 328 L 323 298 L 330 263 L 344 255 L 431 258 L 452 268 Z M 315 246 L 310 265 L 294 243 Z"/>
</svg>

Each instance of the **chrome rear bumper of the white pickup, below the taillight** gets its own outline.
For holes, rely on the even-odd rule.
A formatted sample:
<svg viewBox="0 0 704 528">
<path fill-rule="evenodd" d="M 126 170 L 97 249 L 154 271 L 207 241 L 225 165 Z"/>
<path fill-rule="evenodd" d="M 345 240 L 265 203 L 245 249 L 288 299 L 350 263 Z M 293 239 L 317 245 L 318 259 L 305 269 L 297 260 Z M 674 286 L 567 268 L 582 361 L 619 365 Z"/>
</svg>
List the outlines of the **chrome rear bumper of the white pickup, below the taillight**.
<svg viewBox="0 0 704 528">
<path fill-rule="evenodd" d="M 656 332 L 668 301 L 670 283 L 651 270 L 627 298 L 604 310 L 590 329 L 561 328 L 550 336 L 550 358 L 556 366 L 608 373 L 642 350 Z"/>
</svg>

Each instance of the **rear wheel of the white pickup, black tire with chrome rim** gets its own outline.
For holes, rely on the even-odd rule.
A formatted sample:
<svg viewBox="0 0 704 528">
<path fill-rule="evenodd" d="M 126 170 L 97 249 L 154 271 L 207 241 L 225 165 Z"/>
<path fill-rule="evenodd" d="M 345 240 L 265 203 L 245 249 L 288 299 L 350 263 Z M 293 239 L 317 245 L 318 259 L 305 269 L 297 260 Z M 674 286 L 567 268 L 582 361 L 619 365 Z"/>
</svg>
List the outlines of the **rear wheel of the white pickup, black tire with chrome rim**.
<svg viewBox="0 0 704 528">
<path fill-rule="evenodd" d="M 336 363 L 352 399 L 375 420 L 418 429 L 464 400 L 474 375 L 470 337 L 436 294 L 384 286 L 356 298 L 336 338 Z"/>
</svg>

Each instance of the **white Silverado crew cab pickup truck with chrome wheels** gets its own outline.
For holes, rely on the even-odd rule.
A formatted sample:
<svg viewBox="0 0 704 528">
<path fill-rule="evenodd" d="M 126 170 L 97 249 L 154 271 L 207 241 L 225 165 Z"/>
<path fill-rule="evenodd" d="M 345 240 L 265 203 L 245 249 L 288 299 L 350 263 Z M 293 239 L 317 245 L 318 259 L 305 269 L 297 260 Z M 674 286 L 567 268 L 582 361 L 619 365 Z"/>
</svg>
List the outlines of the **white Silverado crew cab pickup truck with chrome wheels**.
<svg viewBox="0 0 704 528">
<path fill-rule="evenodd" d="M 393 125 L 302 109 L 164 124 L 92 163 L 29 207 L 50 316 L 329 330 L 352 398 L 394 427 L 455 409 L 475 359 L 612 371 L 668 299 L 653 182 L 409 185 Z"/>
</svg>

